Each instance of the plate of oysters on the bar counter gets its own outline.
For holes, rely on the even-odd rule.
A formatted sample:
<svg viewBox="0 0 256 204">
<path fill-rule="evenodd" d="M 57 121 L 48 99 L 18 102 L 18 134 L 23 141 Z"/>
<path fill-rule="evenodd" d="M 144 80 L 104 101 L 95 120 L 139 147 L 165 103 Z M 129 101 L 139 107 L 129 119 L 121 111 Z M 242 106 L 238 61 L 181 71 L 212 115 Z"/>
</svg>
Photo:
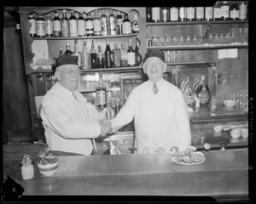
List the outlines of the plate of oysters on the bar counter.
<svg viewBox="0 0 256 204">
<path fill-rule="evenodd" d="M 195 147 L 189 147 L 184 151 L 175 151 L 171 155 L 171 160 L 174 163 L 181 165 L 198 165 L 206 161 L 206 157 L 201 151 L 195 151 Z"/>
</svg>

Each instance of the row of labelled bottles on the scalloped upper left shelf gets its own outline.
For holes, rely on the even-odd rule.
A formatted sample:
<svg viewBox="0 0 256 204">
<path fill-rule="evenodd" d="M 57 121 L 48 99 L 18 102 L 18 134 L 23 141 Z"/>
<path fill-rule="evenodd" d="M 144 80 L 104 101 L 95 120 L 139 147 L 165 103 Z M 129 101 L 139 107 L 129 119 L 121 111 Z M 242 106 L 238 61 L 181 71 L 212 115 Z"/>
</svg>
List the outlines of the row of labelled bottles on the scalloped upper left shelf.
<svg viewBox="0 0 256 204">
<path fill-rule="evenodd" d="M 117 11 L 113 14 L 105 14 L 102 9 L 100 15 L 96 10 L 94 16 L 90 13 L 84 18 L 84 13 L 79 13 L 79 17 L 71 10 L 70 17 L 67 18 L 66 9 L 62 10 L 60 19 L 58 10 L 55 10 L 55 17 L 49 13 L 45 15 L 29 14 L 28 21 L 31 23 L 29 33 L 32 37 L 93 37 L 93 36 L 115 36 L 123 34 L 137 33 L 139 31 L 138 16 L 134 14 L 133 20 L 128 18 L 128 14 L 123 15 Z"/>
</svg>

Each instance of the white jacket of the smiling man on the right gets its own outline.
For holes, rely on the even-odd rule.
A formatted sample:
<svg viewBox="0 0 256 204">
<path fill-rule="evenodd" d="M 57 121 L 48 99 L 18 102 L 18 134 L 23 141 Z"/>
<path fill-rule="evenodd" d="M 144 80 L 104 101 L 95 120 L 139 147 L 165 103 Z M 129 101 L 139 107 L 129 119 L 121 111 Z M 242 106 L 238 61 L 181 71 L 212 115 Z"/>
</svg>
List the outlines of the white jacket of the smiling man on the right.
<svg viewBox="0 0 256 204">
<path fill-rule="evenodd" d="M 152 86 L 148 80 L 131 91 L 124 107 L 111 120 L 113 131 L 134 118 L 137 153 L 144 147 L 150 152 L 160 147 L 171 152 L 172 146 L 185 150 L 191 144 L 191 134 L 181 90 L 164 79 L 157 83 L 158 94 Z"/>
</svg>

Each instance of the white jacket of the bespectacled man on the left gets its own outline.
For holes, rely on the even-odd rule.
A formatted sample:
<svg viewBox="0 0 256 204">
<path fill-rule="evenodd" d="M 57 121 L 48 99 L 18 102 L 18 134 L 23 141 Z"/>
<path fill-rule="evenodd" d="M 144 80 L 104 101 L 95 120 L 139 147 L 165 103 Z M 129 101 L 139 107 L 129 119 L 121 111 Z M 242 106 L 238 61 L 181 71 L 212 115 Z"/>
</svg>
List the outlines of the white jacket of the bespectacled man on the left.
<svg viewBox="0 0 256 204">
<path fill-rule="evenodd" d="M 97 121 L 104 117 L 94 105 L 87 103 L 79 92 L 77 99 L 73 93 L 63 88 L 59 82 L 44 95 L 40 116 L 43 120 L 44 134 L 49 150 L 61 150 L 90 155 L 93 150 L 91 139 L 101 133 Z M 84 105 L 82 111 L 79 102 Z"/>
</svg>

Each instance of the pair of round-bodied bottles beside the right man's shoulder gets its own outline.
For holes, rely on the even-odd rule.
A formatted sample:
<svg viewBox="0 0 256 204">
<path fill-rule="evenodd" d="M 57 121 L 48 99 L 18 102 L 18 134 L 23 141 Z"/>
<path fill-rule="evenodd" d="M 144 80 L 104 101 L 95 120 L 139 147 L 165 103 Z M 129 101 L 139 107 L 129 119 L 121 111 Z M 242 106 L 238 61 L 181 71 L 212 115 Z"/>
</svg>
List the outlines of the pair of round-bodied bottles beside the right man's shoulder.
<svg viewBox="0 0 256 204">
<path fill-rule="evenodd" d="M 211 94 L 204 75 L 201 75 L 201 82 L 195 82 L 193 86 L 189 81 L 189 77 L 187 77 L 187 81 L 182 82 L 180 89 L 182 90 L 185 101 L 190 108 L 206 107 L 209 105 Z"/>
</svg>

